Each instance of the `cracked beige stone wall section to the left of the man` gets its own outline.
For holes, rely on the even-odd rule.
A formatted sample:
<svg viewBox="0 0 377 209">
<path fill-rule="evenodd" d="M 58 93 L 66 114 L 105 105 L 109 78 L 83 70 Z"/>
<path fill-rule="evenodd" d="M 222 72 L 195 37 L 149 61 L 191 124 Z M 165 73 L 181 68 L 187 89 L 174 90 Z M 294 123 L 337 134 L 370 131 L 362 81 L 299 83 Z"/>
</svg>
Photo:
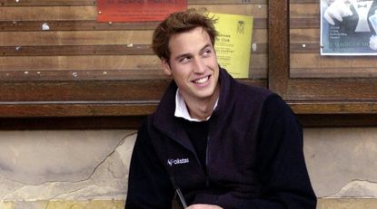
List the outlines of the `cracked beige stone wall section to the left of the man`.
<svg viewBox="0 0 377 209">
<path fill-rule="evenodd" d="M 2 131 L 0 208 L 123 208 L 134 130 Z"/>
</svg>

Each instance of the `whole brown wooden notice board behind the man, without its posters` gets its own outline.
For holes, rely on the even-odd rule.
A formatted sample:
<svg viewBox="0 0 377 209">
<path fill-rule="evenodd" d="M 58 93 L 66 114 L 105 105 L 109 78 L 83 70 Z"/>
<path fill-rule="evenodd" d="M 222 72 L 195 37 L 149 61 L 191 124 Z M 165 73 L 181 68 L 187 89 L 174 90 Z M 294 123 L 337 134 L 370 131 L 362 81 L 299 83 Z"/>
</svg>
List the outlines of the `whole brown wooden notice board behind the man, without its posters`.
<svg viewBox="0 0 377 209">
<path fill-rule="evenodd" d="M 188 4 L 254 16 L 251 77 L 240 81 L 268 85 L 303 124 L 377 124 L 377 81 L 370 79 L 376 63 L 371 57 L 319 56 L 318 0 Z M 150 49 L 158 23 L 96 23 L 96 15 L 95 1 L 0 0 L 0 117 L 13 124 L 8 127 L 53 128 L 48 119 L 68 128 L 109 128 L 108 119 L 117 121 L 110 128 L 135 127 L 155 109 L 169 82 Z M 80 122 L 91 117 L 103 122 Z M 69 126 L 64 119 L 78 120 Z M 124 119 L 134 122 L 123 126 Z"/>
</svg>

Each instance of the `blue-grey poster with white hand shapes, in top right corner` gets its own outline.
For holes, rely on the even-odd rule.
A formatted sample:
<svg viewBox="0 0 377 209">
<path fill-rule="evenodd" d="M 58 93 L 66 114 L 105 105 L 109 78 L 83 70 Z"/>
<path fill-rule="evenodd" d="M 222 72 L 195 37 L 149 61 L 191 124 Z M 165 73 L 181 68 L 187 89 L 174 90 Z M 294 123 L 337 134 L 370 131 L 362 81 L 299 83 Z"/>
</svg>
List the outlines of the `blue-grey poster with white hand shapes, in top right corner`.
<svg viewBox="0 0 377 209">
<path fill-rule="evenodd" d="M 321 0 L 322 55 L 376 55 L 377 1 Z"/>
</svg>

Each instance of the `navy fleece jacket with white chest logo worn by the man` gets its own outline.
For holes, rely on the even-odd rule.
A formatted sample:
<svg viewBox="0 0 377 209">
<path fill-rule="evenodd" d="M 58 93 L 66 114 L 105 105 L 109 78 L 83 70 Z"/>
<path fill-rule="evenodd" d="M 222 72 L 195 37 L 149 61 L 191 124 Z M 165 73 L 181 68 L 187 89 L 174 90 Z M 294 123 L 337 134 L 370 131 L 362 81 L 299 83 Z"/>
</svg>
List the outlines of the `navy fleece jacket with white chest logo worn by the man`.
<svg viewBox="0 0 377 209">
<path fill-rule="evenodd" d="M 139 129 L 125 208 L 171 208 L 175 188 L 187 204 L 315 208 L 302 128 L 292 110 L 276 94 L 234 81 L 224 70 L 220 82 L 218 107 L 199 134 L 174 117 L 172 82 Z"/>
</svg>

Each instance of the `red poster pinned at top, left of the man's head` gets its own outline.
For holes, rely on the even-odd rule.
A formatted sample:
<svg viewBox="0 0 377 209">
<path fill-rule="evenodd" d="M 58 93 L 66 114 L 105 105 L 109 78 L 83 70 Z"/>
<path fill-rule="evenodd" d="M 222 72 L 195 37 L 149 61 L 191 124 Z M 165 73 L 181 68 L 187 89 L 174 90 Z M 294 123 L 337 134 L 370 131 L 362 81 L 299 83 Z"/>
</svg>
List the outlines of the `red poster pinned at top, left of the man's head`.
<svg viewBox="0 0 377 209">
<path fill-rule="evenodd" d="M 186 0 L 97 0 L 97 22 L 162 21 L 186 8 Z"/>
</svg>

